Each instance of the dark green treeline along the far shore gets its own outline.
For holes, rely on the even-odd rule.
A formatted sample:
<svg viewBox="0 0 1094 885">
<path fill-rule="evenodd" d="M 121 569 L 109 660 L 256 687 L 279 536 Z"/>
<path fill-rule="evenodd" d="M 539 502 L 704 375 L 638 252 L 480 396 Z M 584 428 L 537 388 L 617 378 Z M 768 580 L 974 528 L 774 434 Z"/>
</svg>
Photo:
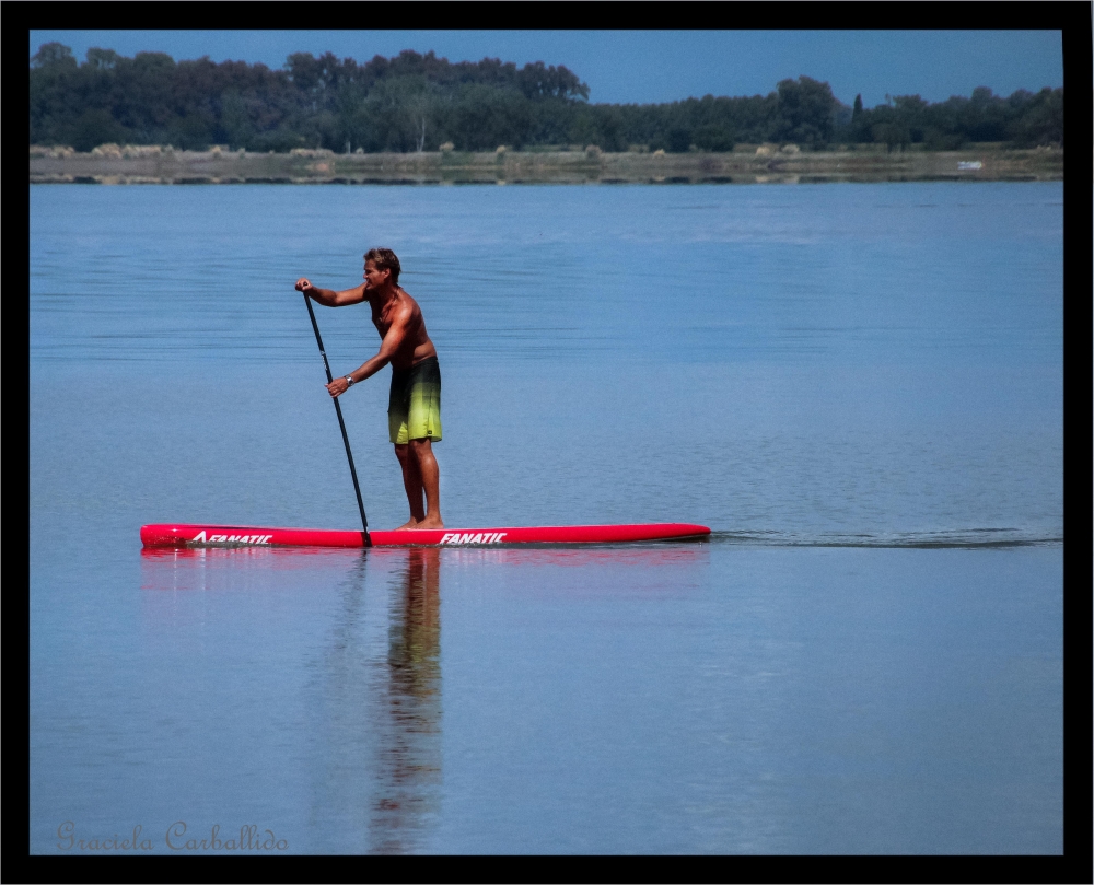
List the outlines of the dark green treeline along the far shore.
<svg viewBox="0 0 1094 885">
<path fill-rule="evenodd" d="M 327 148 L 342 152 L 435 151 L 595 144 L 672 152 L 729 151 L 738 143 L 1014 147 L 1063 143 L 1063 90 L 1010 97 L 980 86 L 931 104 L 918 95 L 864 108 L 827 83 L 800 77 L 768 95 L 688 98 L 656 105 L 590 104 L 589 86 L 562 66 L 499 59 L 453 65 L 406 50 L 359 65 L 330 53 L 289 56 L 282 70 L 208 58 L 176 62 L 46 44 L 31 59 L 31 143 L 78 151 L 114 142 L 202 150 Z"/>
</svg>

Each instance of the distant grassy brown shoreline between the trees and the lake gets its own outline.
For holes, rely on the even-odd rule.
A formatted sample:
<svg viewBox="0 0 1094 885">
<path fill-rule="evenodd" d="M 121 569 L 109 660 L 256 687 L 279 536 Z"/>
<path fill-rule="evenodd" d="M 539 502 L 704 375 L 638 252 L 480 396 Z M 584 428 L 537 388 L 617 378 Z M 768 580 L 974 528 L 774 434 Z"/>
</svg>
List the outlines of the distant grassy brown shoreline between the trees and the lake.
<svg viewBox="0 0 1094 885">
<path fill-rule="evenodd" d="M 1062 181 L 1063 150 L 974 145 L 958 151 L 731 153 L 571 151 L 336 154 L 103 145 L 92 153 L 31 149 L 31 184 L 810 184 L 822 182 Z"/>
</svg>

